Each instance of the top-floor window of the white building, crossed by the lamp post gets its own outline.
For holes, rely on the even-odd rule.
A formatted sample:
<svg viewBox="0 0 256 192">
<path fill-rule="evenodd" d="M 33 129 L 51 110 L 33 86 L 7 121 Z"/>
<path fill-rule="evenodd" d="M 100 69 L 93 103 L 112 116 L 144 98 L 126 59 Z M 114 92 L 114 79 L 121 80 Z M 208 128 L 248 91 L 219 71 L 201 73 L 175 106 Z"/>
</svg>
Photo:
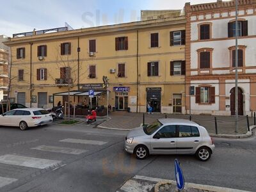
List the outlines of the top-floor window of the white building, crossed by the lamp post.
<svg viewBox="0 0 256 192">
<path fill-rule="evenodd" d="M 248 21 L 239 20 L 237 22 L 237 36 L 248 35 Z M 236 22 L 228 22 L 228 37 L 236 36 Z"/>
</svg>

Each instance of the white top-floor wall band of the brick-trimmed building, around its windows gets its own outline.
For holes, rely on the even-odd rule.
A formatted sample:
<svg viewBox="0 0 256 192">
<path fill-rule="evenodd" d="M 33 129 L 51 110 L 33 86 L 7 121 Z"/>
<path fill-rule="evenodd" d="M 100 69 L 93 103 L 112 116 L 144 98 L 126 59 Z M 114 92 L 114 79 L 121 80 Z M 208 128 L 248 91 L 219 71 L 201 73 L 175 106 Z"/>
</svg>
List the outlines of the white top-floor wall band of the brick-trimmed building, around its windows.
<svg viewBox="0 0 256 192">
<path fill-rule="evenodd" d="M 238 17 L 239 19 L 248 20 L 248 35 L 256 35 L 256 15 L 247 17 Z M 228 22 L 233 18 L 209 20 L 212 22 L 212 38 L 228 37 Z M 198 40 L 198 24 L 205 21 L 191 22 L 191 40 Z"/>
</svg>

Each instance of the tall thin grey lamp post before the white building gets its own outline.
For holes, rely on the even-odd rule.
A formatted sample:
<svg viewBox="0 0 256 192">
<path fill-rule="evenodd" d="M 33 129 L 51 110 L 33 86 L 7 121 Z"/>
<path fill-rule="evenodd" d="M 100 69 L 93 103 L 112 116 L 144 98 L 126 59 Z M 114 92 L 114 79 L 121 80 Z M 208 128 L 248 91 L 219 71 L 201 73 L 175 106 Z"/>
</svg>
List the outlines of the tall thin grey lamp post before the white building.
<svg viewBox="0 0 256 192">
<path fill-rule="evenodd" d="M 237 64 L 238 64 L 238 47 L 237 47 L 237 1 L 236 0 L 236 88 L 235 88 L 235 111 L 236 111 L 236 126 L 235 126 L 235 132 L 238 132 L 238 101 L 237 101 L 237 92 L 238 92 L 238 86 L 237 86 L 237 79 L 238 79 L 238 73 L 237 73 Z"/>
</svg>

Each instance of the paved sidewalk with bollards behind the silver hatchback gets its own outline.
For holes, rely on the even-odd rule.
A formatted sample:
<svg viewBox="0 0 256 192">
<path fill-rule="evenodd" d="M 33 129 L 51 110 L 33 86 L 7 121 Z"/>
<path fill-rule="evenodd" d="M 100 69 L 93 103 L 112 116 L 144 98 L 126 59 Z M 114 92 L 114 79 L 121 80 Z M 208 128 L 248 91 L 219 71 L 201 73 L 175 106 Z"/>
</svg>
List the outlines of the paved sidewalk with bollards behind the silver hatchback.
<svg viewBox="0 0 256 192">
<path fill-rule="evenodd" d="M 143 113 L 126 113 L 122 111 L 112 112 L 108 121 L 100 124 L 98 127 L 105 129 L 130 130 L 139 127 L 143 123 Z M 167 118 L 184 118 L 189 119 L 189 115 L 166 115 Z M 154 122 L 157 118 L 165 118 L 164 114 L 145 113 L 145 124 Z M 246 116 L 239 116 L 239 129 L 235 133 L 235 116 L 216 116 L 218 134 L 246 134 L 248 132 Z M 214 116 L 211 115 L 192 115 L 191 120 L 199 125 L 204 126 L 209 134 L 216 134 Z M 253 125 L 253 117 L 249 117 L 249 124 Z"/>
</svg>

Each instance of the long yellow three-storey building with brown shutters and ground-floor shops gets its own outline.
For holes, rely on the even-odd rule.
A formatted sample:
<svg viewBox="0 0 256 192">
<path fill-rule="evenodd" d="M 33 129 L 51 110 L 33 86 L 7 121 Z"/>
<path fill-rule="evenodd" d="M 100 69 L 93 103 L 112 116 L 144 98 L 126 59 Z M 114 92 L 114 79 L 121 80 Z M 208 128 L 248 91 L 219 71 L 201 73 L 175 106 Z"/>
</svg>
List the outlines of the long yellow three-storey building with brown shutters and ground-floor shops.
<svg viewBox="0 0 256 192">
<path fill-rule="evenodd" d="M 26 106 L 51 108 L 61 100 L 116 110 L 185 113 L 184 16 L 111 26 L 58 28 L 13 35 L 10 97 Z M 49 33 L 56 31 L 56 33 Z M 23 35 L 23 36 L 20 36 Z M 54 97 L 53 97 L 54 96 Z"/>
</svg>

